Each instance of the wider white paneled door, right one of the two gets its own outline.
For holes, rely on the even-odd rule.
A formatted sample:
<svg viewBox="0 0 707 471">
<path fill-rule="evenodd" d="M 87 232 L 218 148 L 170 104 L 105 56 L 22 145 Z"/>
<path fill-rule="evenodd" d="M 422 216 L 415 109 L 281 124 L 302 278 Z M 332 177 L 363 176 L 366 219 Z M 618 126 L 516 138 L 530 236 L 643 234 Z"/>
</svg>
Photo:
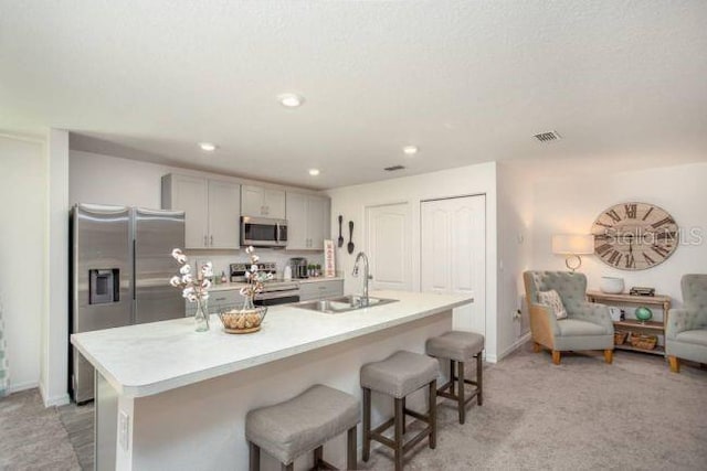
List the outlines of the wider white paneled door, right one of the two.
<svg viewBox="0 0 707 471">
<path fill-rule="evenodd" d="M 421 205 L 422 291 L 467 295 L 454 329 L 486 335 L 486 197 L 424 201 Z"/>
</svg>

